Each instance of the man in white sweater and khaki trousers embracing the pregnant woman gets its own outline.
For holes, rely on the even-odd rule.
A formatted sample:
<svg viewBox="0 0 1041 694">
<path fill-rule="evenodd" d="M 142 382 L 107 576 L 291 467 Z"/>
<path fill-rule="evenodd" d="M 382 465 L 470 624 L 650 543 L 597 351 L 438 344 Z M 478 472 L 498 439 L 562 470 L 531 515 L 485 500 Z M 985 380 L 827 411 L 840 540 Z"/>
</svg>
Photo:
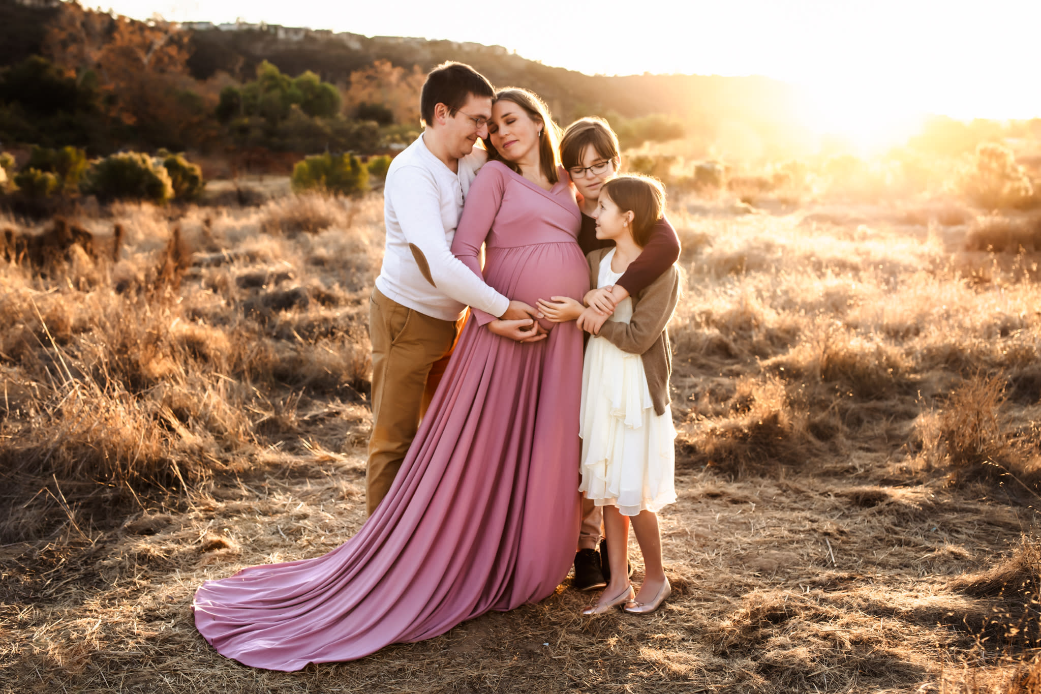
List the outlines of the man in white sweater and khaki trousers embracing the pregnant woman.
<svg viewBox="0 0 1041 694">
<path fill-rule="evenodd" d="M 390 163 L 384 183 L 386 248 L 370 302 L 373 433 L 365 471 L 370 515 L 390 490 L 445 374 L 466 306 L 499 320 L 497 334 L 536 341 L 535 309 L 510 301 L 452 255 L 463 199 L 484 163 L 494 89 L 469 66 L 445 62 L 420 97 L 423 134 Z"/>
</svg>

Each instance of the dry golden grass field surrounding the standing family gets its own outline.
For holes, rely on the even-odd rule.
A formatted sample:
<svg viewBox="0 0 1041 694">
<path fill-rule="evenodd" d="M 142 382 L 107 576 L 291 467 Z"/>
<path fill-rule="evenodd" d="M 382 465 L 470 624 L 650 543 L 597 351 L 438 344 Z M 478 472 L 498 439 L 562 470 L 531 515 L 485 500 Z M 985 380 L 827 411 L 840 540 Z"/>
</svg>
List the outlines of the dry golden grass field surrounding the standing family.
<svg viewBox="0 0 1041 694">
<path fill-rule="evenodd" d="M 39 267 L 0 249 L 0 691 L 1041 691 L 1041 224 L 670 216 L 664 609 L 584 617 L 565 583 L 299 673 L 221 658 L 189 606 L 363 521 L 382 199 L 117 205 Z"/>
</svg>

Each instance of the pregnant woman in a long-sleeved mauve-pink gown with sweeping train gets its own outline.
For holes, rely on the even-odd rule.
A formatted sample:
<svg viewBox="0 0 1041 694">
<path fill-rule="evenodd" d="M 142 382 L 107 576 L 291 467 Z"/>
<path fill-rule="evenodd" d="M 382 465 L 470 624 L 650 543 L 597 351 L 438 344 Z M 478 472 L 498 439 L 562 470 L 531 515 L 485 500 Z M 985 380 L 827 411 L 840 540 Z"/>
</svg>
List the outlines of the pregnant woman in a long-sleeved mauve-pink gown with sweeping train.
<svg viewBox="0 0 1041 694">
<path fill-rule="evenodd" d="M 503 294 L 534 305 L 589 288 L 581 215 L 556 159 L 557 127 L 531 93 L 497 94 L 488 163 L 452 250 Z M 541 600 L 579 533 L 582 335 L 539 326 L 515 342 L 475 311 L 384 500 L 315 559 L 257 566 L 196 593 L 196 625 L 246 665 L 299 670 L 429 639 L 489 610 Z"/>
</svg>

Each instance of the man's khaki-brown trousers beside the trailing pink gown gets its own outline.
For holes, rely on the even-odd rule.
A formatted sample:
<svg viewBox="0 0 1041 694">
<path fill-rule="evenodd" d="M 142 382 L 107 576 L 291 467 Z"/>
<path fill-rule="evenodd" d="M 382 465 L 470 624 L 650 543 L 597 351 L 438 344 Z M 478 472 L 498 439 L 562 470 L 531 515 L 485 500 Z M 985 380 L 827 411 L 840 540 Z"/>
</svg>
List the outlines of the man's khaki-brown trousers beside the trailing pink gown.
<svg viewBox="0 0 1041 694">
<path fill-rule="evenodd" d="M 373 434 L 365 469 L 365 507 L 383 500 L 437 390 L 466 315 L 440 320 L 373 289 L 369 336 L 373 342 Z"/>
</svg>

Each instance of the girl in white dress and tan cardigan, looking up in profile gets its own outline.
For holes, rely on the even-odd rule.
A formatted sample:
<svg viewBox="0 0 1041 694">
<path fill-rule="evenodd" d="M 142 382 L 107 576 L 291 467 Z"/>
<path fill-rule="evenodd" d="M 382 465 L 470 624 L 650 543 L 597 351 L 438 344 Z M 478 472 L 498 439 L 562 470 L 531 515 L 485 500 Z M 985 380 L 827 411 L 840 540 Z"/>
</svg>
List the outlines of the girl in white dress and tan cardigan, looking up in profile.
<svg viewBox="0 0 1041 694">
<path fill-rule="evenodd" d="M 606 181 L 594 215 L 596 238 L 613 248 L 588 254 L 591 289 L 611 286 L 640 257 L 662 217 L 665 192 L 655 179 L 625 175 Z M 654 282 L 620 301 L 590 338 L 582 368 L 582 484 L 579 489 L 604 507 L 611 579 L 596 605 L 584 614 L 623 606 L 626 612 L 657 610 L 671 588 L 661 560 L 657 511 L 676 500 L 672 482 L 676 430 L 669 410 L 670 350 L 665 326 L 679 297 L 680 274 L 670 266 Z M 583 305 L 566 297 L 539 301 L 553 322 L 578 318 Z M 626 571 L 629 523 L 643 555 L 638 593 Z"/>
</svg>

